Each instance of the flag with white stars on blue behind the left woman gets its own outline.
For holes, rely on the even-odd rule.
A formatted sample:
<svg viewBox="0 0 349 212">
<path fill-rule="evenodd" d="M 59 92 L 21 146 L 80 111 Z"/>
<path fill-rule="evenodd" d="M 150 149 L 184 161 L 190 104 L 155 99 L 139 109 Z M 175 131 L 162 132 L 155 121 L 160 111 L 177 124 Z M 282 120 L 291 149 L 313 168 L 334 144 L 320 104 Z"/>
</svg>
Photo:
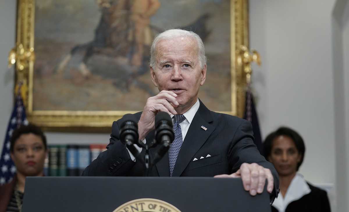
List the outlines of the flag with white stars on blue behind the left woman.
<svg viewBox="0 0 349 212">
<path fill-rule="evenodd" d="M 23 100 L 21 92 L 18 92 L 16 97 L 16 104 L 13 108 L 11 118 L 8 122 L 8 127 L 5 135 L 5 141 L 2 147 L 2 153 L 0 158 L 0 184 L 9 183 L 14 174 L 16 173 L 16 167 L 10 157 L 10 139 L 13 130 L 21 126 L 21 124 L 28 125 L 27 116 L 25 115 L 25 108 L 23 106 Z"/>
</svg>

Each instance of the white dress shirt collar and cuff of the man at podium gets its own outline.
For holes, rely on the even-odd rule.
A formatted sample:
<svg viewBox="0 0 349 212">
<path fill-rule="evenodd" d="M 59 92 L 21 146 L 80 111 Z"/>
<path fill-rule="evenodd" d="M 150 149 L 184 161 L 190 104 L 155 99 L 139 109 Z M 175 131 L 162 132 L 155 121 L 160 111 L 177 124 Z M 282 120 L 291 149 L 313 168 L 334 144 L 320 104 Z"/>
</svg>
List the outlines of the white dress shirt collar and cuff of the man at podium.
<svg viewBox="0 0 349 212">
<path fill-rule="evenodd" d="M 185 112 L 183 114 L 184 117 L 185 117 L 185 120 L 182 121 L 181 123 L 179 123 L 180 128 L 182 130 L 183 141 L 184 141 L 185 136 L 187 135 L 188 129 L 190 127 L 190 124 L 192 123 L 192 121 L 194 119 L 194 116 L 195 116 L 196 112 L 199 109 L 199 106 L 200 106 L 200 102 L 199 102 L 199 99 L 198 99 L 198 100 L 196 100 L 196 103 L 187 112 Z M 172 122 L 173 122 L 173 116 L 174 115 L 171 114 Z M 145 144 L 147 142 L 146 138 L 144 138 L 142 142 Z M 142 147 L 139 147 L 136 144 L 133 144 L 133 145 L 134 145 L 134 147 L 136 147 L 138 152 L 142 151 Z M 129 153 L 129 155 L 131 157 L 131 160 L 136 161 L 136 158 L 133 156 L 133 154 L 128 149 L 127 149 L 127 151 L 128 151 L 128 153 Z"/>
</svg>

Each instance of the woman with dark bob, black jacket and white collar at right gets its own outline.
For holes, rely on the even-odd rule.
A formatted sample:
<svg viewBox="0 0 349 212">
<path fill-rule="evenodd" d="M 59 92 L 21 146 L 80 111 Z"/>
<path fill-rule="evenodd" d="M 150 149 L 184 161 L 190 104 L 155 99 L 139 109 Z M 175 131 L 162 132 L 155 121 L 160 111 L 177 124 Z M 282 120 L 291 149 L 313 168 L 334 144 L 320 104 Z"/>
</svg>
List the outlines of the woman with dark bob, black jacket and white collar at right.
<svg viewBox="0 0 349 212">
<path fill-rule="evenodd" d="M 265 157 L 280 177 L 280 194 L 272 212 L 330 212 L 327 192 L 305 181 L 297 171 L 303 162 L 305 145 L 294 130 L 280 127 L 264 142 Z"/>
</svg>

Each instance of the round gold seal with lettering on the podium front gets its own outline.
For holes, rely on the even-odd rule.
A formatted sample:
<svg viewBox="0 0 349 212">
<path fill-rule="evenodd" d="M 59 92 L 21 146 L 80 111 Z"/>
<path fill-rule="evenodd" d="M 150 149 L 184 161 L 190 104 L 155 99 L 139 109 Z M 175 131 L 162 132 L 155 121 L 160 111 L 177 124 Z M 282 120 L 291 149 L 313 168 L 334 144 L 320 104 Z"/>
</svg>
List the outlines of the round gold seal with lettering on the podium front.
<svg viewBox="0 0 349 212">
<path fill-rule="evenodd" d="M 170 203 L 159 199 L 143 198 L 131 200 L 113 212 L 181 212 Z"/>
</svg>

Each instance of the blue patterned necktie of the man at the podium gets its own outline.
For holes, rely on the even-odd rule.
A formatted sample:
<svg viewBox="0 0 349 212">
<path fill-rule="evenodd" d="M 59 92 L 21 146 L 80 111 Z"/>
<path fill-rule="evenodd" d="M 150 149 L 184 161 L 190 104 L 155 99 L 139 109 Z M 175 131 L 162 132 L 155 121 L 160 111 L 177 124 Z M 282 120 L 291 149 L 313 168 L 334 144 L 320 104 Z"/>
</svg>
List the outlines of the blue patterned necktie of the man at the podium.
<svg viewBox="0 0 349 212">
<path fill-rule="evenodd" d="M 185 116 L 174 115 L 173 119 L 174 119 L 174 122 L 173 122 L 174 139 L 173 139 L 173 142 L 170 144 L 170 148 L 169 148 L 169 165 L 170 165 L 171 177 L 172 177 L 174 165 L 176 164 L 180 147 L 182 146 L 182 143 L 183 143 L 182 129 L 180 128 L 179 123 L 185 120 Z"/>
</svg>

